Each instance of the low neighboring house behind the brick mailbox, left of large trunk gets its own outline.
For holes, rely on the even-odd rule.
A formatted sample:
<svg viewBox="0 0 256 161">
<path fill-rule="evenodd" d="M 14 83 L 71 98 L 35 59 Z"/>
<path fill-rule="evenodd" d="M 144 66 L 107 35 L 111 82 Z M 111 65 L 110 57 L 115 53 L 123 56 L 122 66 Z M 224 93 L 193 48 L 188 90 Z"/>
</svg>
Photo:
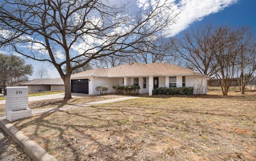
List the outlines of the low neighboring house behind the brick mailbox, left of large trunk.
<svg viewBox="0 0 256 161">
<path fill-rule="evenodd" d="M 65 86 L 61 78 L 45 78 L 36 79 L 23 83 L 22 85 L 28 86 L 28 91 L 64 91 Z"/>
</svg>

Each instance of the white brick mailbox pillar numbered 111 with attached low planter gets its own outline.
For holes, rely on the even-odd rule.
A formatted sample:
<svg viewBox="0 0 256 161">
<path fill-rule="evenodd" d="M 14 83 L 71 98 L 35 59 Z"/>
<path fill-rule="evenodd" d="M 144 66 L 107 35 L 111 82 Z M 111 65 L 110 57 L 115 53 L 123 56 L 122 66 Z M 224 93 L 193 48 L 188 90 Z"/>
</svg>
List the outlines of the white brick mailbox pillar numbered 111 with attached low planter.
<svg viewBox="0 0 256 161">
<path fill-rule="evenodd" d="M 10 122 L 30 117 L 28 108 L 28 87 L 6 87 L 6 119 Z"/>
</svg>

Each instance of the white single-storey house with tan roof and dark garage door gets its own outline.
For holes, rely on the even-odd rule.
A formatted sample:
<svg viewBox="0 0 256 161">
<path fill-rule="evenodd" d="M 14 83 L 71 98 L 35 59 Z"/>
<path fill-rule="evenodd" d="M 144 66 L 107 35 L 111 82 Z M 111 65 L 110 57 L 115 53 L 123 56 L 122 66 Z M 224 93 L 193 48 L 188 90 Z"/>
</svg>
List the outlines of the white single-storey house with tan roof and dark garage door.
<svg viewBox="0 0 256 161">
<path fill-rule="evenodd" d="M 158 87 L 194 87 L 194 94 L 206 94 L 206 75 L 168 63 L 124 64 L 110 69 L 95 68 L 71 75 L 71 92 L 100 94 L 95 88 L 109 85 L 108 93 L 115 92 L 112 85 L 140 85 L 140 93 L 152 95 Z"/>
</svg>

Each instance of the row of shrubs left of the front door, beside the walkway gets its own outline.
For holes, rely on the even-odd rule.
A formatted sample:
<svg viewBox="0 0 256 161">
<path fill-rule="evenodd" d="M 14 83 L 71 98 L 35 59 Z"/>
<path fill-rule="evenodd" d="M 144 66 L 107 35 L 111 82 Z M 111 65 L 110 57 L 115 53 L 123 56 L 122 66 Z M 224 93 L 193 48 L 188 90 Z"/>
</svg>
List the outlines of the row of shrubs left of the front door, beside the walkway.
<svg viewBox="0 0 256 161">
<path fill-rule="evenodd" d="M 139 85 L 113 85 L 113 89 L 116 90 L 118 94 L 130 94 L 130 95 L 139 95 L 140 86 Z"/>
</svg>

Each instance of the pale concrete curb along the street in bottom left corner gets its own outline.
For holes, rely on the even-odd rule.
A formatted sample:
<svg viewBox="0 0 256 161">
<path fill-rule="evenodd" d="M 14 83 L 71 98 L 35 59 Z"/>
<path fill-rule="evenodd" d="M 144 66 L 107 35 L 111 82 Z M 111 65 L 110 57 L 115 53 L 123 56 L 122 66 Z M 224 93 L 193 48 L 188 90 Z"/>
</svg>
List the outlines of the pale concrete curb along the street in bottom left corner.
<svg viewBox="0 0 256 161">
<path fill-rule="evenodd" d="M 9 123 L 0 115 L 0 127 L 12 137 L 12 139 L 26 151 L 28 156 L 34 161 L 57 161 L 52 155 L 48 154 L 42 147 L 31 141 L 27 136 Z"/>
</svg>

